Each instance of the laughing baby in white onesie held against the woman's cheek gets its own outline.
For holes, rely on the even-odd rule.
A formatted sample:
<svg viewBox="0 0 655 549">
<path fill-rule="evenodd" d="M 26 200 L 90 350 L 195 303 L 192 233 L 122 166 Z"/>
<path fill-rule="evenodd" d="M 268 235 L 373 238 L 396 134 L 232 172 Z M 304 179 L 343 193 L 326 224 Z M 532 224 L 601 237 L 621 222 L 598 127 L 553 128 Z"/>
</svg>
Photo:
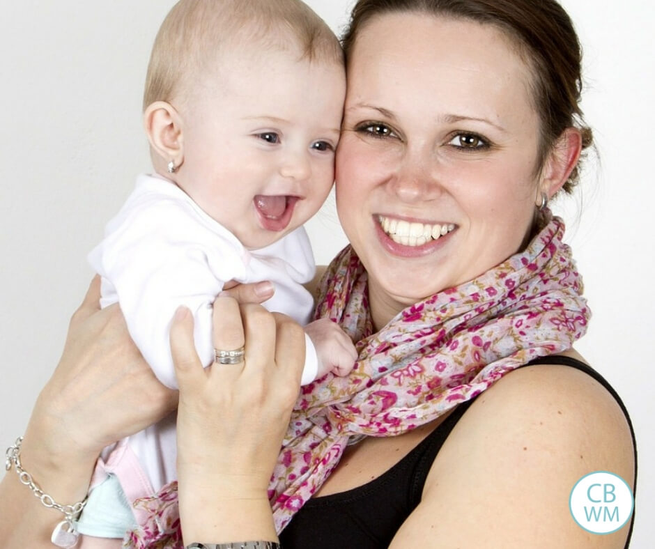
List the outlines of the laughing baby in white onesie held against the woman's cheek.
<svg viewBox="0 0 655 549">
<path fill-rule="evenodd" d="M 315 271 L 302 224 L 332 187 L 345 88 L 339 41 L 301 1 L 181 0 L 164 20 L 144 97 L 154 173 L 89 258 L 101 305 L 120 302 L 165 385 L 176 387 L 174 311 L 191 309 L 196 350 L 213 364 L 211 307 L 230 280 L 272 281 L 265 307 L 306 325 L 304 384 L 352 369 L 346 334 L 307 324 L 302 286 Z M 131 503 L 176 479 L 175 449 L 174 417 L 105 449 L 79 532 L 122 539 L 141 518 Z"/>
</svg>

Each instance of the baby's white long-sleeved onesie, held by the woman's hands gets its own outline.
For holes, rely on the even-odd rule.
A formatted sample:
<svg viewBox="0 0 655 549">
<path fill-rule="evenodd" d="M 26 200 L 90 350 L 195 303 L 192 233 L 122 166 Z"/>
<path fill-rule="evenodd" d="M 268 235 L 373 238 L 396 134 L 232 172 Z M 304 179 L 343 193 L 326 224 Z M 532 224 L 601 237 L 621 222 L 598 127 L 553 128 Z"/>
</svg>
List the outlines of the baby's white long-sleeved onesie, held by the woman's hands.
<svg viewBox="0 0 655 549">
<path fill-rule="evenodd" d="M 311 294 L 302 286 L 316 270 L 302 227 L 268 247 L 247 250 L 183 190 L 158 176 L 137 178 L 123 208 L 107 224 L 105 239 L 88 258 L 102 276 L 100 305 L 120 303 L 132 339 L 157 378 L 171 388 L 177 388 L 177 382 L 169 327 L 180 305 L 188 307 L 194 316 L 194 340 L 204 366 L 214 361 L 212 303 L 227 281 L 271 281 L 275 295 L 264 306 L 302 325 L 307 324 L 314 308 Z M 309 337 L 305 341 L 303 384 L 313 381 L 318 372 L 314 345 Z M 129 460 L 117 459 L 126 452 Z M 132 483 L 134 470 L 123 475 L 121 466 L 107 467 L 119 461 L 123 465 L 130 461 L 132 469 L 138 463 L 151 485 L 143 479 L 146 488 L 135 492 L 123 486 L 128 500 L 146 495 L 144 489 L 156 492 L 176 479 L 175 418 L 164 419 L 105 449 L 92 486 L 102 482 L 102 467 L 116 475 L 121 484 Z M 84 515 L 93 515 L 93 498 L 89 505 L 82 523 Z"/>
</svg>

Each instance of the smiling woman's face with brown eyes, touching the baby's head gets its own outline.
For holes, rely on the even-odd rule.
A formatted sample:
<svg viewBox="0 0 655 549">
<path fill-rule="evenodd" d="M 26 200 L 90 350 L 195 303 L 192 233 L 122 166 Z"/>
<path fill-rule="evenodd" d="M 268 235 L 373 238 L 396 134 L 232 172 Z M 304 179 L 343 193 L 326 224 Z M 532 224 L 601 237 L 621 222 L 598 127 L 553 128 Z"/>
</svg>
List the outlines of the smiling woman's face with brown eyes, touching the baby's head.
<svg viewBox="0 0 655 549">
<path fill-rule="evenodd" d="M 521 248 L 540 196 L 538 135 L 530 71 L 494 27 L 407 13 L 364 26 L 337 208 L 385 321 Z"/>
</svg>

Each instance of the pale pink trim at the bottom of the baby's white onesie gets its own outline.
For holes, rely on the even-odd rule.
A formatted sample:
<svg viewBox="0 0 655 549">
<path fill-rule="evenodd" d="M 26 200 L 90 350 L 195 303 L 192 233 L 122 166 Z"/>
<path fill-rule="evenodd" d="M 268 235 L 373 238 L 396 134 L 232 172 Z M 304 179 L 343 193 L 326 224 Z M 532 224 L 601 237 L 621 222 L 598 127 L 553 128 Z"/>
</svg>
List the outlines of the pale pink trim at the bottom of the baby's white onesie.
<svg viewBox="0 0 655 549">
<path fill-rule="evenodd" d="M 144 524 L 149 513 L 145 509 L 134 507 L 134 502 L 141 497 L 151 497 L 155 490 L 144 468 L 141 467 L 137 454 L 134 454 L 134 451 L 130 448 L 127 438 L 116 443 L 106 461 L 100 457 L 95 462 L 95 470 L 93 470 L 93 477 L 91 477 L 91 488 L 101 484 L 109 473 L 115 474 L 118 482 L 121 483 L 121 488 L 123 488 L 137 523 L 139 525 Z"/>
</svg>

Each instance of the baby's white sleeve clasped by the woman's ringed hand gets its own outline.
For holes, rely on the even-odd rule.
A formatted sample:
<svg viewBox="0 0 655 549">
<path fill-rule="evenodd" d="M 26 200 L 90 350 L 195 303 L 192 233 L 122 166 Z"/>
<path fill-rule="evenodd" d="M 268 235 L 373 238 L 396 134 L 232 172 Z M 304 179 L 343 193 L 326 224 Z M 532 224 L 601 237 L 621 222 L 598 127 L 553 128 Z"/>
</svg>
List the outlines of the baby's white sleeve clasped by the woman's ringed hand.
<svg viewBox="0 0 655 549">
<path fill-rule="evenodd" d="M 171 318 L 180 305 L 191 310 L 196 351 L 204 366 L 212 364 L 213 301 L 224 282 L 245 271 L 238 241 L 203 226 L 190 205 L 167 199 L 122 217 L 89 257 L 103 277 L 102 304 L 120 303 L 155 375 L 176 388 Z"/>
</svg>

